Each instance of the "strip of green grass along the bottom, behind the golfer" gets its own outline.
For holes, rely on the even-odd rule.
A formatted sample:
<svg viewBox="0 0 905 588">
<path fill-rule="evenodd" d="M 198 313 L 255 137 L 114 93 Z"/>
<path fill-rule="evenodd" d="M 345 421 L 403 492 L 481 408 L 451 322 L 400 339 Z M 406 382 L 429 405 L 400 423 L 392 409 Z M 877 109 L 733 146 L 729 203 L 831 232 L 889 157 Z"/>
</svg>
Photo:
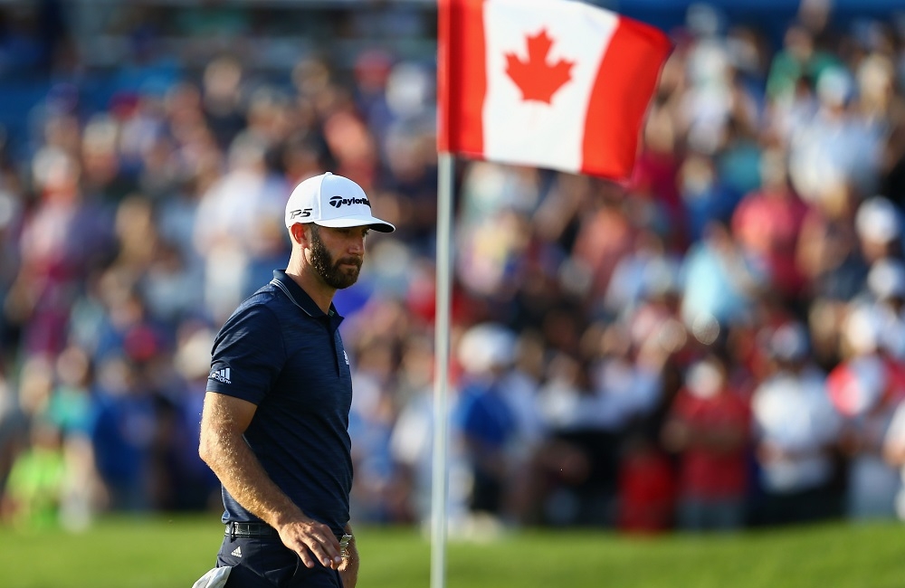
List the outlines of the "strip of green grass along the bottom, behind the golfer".
<svg viewBox="0 0 905 588">
<path fill-rule="evenodd" d="M 215 515 L 115 518 L 81 534 L 0 528 L 3 588 L 188 588 L 214 564 Z M 430 545 L 403 528 L 357 530 L 360 588 L 427 588 Z M 731 536 L 525 531 L 452 541 L 449 588 L 814 588 L 905 584 L 905 526 L 834 524 Z"/>
</svg>

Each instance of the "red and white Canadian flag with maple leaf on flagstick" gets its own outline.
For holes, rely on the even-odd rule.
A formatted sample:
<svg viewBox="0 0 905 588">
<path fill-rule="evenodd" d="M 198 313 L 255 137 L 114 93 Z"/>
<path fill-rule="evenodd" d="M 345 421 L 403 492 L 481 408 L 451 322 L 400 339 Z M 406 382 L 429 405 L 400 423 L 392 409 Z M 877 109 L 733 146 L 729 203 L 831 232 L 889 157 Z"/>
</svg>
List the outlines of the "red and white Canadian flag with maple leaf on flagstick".
<svg viewBox="0 0 905 588">
<path fill-rule="evenodd" d="M 438 150 L 624 180 L 672 43 L 570 0 L 440 0 Z"/>
</svg>

